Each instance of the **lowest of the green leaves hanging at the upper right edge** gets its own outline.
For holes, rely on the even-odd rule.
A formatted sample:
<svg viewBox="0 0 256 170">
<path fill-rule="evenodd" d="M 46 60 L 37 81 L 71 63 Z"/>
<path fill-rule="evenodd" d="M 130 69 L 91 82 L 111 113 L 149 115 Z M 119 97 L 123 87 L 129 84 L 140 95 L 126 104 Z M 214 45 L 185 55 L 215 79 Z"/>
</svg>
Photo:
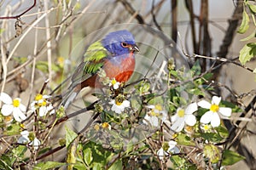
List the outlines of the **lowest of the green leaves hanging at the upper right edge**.
<svg viewBox="0 0 256 170">
<path fill-rule="evenodd" d="M 247 61 L 255 57 L 256 55 L 256 42 L 247 43 L 243 48 L 241 48 L 239 54 L 239 60 L 241 65 L 245 65 Z"/>
</svg>

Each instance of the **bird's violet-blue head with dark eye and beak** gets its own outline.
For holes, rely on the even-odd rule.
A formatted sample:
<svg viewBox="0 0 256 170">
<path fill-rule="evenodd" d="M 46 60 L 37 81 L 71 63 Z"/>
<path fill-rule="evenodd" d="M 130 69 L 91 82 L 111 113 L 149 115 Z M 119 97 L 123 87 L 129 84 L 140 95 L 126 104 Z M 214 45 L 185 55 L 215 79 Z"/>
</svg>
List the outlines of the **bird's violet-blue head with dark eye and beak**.
<svg viewBox="0 0 256 170">
<path fill-rule="evenodd" d="M 107 48 L 108 52 L 113 54 L 113 56 L 139 51 L 134 37 L 131 32 L 127 30 L 110 32 L 102 39 L 102 45 L 104 48 Z"/>
</svg>

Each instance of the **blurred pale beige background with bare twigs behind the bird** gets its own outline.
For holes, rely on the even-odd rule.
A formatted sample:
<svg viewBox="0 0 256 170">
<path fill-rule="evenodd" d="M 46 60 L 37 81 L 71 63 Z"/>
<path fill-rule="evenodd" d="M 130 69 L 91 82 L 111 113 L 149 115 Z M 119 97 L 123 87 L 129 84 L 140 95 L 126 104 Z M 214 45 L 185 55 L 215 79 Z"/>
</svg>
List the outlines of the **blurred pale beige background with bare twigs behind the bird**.
<svg viewBox="0 0 256 170">
<path fill-rule="evenodd" d="M 143 58 L 137 59 L 138 73 L 144 74 L 141 65 L 146 68 L 143 62 L 152 61 L 157 51 L 163 59 L 173 58 L 177 66 L 186 68 L 195 62 L 186 54 L 237 59 L 247 43 L 240 40 L 253 31 L 250 26 L 245 35 L 236 33 L 242 4 L 243 1 L 232 0 L 1 1 L 1 17 L 16 16 L 32 7 L 19 20 L 0 20 L 1 90 L 28 104 L 46 79 L 49 92 L 60 84 L 79 65 L 91 42 L 122 29 L 131 31 L 141 48 L 139 55 Z M 209 70 L 214 61 L 200 59 L 202 71 Z M 155 67 L 159 66 L 160 61 Z M 246 66 L 254 69 L 255 61 Z M 239 101 L 233 101 L 243 108 L 250 103 L 256 87 L 252 72 L 225 63 L 214 73 L 215 81 L 231 89 L 230 93 L 227 88 L 218 88 L 216 94 L 231 101 L 233 94 L 245 94 Z M 238 125 L 252 132 L 242 131 L 239 144 L 234 145 L 234 150 L 247 156 L 247 161 L 230 169 L 255 168 L 254 124 L 253 120 Z"/>
</svg>

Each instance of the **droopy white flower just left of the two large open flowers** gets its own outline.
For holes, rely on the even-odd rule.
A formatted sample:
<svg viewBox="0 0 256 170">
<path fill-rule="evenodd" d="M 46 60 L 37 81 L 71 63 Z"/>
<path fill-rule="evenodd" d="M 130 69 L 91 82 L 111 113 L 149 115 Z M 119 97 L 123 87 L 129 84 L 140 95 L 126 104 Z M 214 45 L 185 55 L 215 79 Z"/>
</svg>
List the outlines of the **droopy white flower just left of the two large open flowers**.
<svg viewBox="0 0 256 170">
<path fill-rule="evenodd" d="M 143 123 L 148 125 L 148 122 L 153 127 L 159 126 L 159 119 L 162 122 L 166 121 L 167 113 L 162 109 L 161 105 L 148 105 L 146 106 L 150 111 L 144 116 Z"/>
</svg>

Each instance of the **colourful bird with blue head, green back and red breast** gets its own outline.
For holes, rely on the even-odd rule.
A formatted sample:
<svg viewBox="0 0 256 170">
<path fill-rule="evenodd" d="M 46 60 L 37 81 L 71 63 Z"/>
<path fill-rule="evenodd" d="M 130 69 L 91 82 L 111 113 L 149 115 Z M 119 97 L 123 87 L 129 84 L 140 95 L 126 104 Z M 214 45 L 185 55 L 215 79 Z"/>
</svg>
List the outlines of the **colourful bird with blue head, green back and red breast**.
<svg viewBox="0 0 256 170">
<path fill-rule="evenodd" d="M 135 52 L 139 52 L 139 48 L 127 30 L 110 32 L 102 40 L 90 44 L 84 61 L 73 73 L 72 84 L 61 105 L 67 109 L 83 88 L 102 88 L 98 76 L 101 69 L 110 80 L 127 82 L 135 69 Z"/>
</svg>

